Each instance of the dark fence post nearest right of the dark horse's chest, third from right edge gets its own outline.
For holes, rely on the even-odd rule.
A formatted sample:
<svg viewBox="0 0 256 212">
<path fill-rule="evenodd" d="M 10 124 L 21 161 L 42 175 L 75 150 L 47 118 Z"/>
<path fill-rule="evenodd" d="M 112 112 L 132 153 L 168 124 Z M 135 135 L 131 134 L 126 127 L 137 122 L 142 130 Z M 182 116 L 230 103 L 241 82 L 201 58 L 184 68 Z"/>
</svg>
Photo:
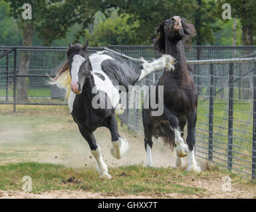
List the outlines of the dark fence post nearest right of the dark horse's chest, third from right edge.
<svg viewBox="0 0 256 212">
<path fill-rule="evenodd" d="M 213 155 L 213 64 L 209 64 L 210 80 L 209 80 L 209 147 L 208 147 L 208 159 L 212 160 Z"/>
</svg>

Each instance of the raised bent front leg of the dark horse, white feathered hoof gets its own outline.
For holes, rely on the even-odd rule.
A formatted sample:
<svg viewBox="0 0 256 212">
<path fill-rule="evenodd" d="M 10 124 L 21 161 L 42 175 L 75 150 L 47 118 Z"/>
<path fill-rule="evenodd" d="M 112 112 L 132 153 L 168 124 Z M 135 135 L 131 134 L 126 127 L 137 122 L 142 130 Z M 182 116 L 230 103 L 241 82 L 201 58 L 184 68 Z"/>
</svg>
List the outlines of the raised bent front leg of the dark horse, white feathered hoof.
<svg viewBox="0 0 256 212">
<path fill-rule="evenodd" d="M 179 121 L 176 115 L 174 115 L 169 109 L 164 107 L 164 120 L 167 117 L 171 129 L 174 131 L 175 144 L 176 144 L 176 154 L 178 157 L 183 158 L 188 155 L 188 145 L 184 142 L 180 131 L 179 131 Z"/>
</svg>

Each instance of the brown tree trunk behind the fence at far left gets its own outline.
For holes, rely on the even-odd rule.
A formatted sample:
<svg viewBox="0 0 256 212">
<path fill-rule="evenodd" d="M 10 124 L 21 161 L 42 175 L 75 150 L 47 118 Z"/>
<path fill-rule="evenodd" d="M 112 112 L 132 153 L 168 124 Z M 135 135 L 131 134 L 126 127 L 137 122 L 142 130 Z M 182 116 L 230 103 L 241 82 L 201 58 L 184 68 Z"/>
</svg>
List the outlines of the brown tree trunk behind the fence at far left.
<svg viewBox="0 0 256 212">
<path fill-rule="evenodd" d="M 23 28 L 23 46 L 31 46 L 33 35 L 34 35 L 35 26 L 31 23 L 27 23 Z M 19 74 L 29 74 L 29 59 L 30 52 L 23 51 L 21 52 L 21 62 L 19 64 Z M 17 101 L 28 101 L 27 95 L 27 78 L 17 78 Z"/>
</svg>

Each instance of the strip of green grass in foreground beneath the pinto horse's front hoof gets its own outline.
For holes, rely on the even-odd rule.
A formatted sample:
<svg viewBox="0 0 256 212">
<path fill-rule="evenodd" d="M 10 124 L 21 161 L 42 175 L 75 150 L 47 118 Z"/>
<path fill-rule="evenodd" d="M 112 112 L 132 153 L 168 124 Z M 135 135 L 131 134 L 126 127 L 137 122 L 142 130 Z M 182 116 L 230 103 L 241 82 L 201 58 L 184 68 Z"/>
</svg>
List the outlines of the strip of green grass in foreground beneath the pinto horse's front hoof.
<svg viewBox="0 0 256 212">
<path fill-rule="evenodd" d="M 170 168 L 145 168 L 140 165 L 110 168 L 112 180 L 96 178 L 94 168 L 74 169 L 57 164 L 40 164 L 22 162 L 0 166 L 0 189 L 21 190 L 23 176 L 30 176 L 33 192 L 83 189 L 100 193 L 128 193 L 156 195 L 164 193 L 184 193 L 188 195 L 203 194 L 206 190 L 200 187 L 182 185 L 180 182 L 196 174 Z M 125 172 L 127 176 L 120 176 Z M 207 176 L 207 174 L 205 174 Z M 63 184 L 62 180 L 74 177 L 80 183 Z"/>
</svg>

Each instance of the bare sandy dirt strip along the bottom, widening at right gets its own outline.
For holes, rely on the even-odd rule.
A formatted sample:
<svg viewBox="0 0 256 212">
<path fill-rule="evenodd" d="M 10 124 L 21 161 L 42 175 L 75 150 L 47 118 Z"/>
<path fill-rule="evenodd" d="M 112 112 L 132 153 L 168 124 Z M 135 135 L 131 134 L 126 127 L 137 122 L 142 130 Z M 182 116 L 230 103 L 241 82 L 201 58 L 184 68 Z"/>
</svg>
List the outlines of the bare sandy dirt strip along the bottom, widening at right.
<svg viewBox="0 0 256 212">
<path fill-rule="evenodd" d="M 255 190 L 251 190 L 248 186 L 232 185 L 231 191 L 223 192 L 221 189 L 220 180 L 204 180 L 192 179 L 182 183 L 187 186 L 203 187 L 207 189 L 207 194 L 204 195 L 184 195 L 182 193 L 168 193 L 154 196 L 149 195 L 113 195 L 107 193 L 102 195 L 90 191 L 47 191 L 42 193 L 27 193 L 25 191 L 0 191 L 0 199 L 255 199 Z"/>
</svg>

